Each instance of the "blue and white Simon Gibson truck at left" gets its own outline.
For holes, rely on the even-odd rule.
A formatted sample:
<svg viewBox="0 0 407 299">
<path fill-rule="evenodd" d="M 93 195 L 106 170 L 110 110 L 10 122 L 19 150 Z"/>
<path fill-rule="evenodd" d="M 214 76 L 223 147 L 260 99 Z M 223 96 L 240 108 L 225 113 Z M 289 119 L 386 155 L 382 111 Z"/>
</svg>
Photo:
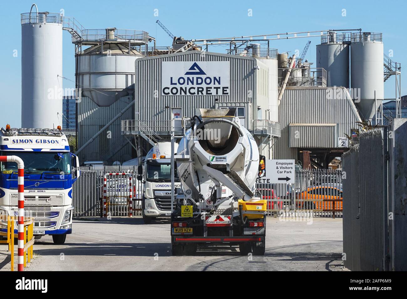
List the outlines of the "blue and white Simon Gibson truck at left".
<svg viewBox="0 0 407 299">
<path fill-rule="evenodd" d="M 63 244 L 72 233 L 72 184 L 79 177 L 78 157 L 57 129 L 0 129 L 0 155 L 24 161 L 24 214 L 34 218 L 34 235 Z M 0 213 L 18 215 L 17 164 L 0 163 Z M 17 227 L 17 226 L 15 226 Z M 7 231 L 7 223 L 0 223 Z"/>
</svg>

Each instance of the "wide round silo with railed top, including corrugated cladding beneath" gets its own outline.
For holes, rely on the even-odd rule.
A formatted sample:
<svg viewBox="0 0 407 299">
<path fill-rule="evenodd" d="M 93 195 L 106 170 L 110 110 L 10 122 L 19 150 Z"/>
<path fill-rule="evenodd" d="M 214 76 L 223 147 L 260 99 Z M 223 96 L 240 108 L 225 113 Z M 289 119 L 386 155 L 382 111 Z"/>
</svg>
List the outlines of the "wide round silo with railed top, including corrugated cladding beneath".
<svg viewBox="0 0 407 299">
<path fill-rule="evenodd" d="M 131 145 L 121 134 L 120 120 L 134 116 L 131 103 L 134 103 L 135 62 L 144 57 L 142 46 L 148 43 L 148 33 L 116 28 L 84 29 L 81 37 L 81 46 L 89 47 L 76 53 L 77 85 L 82 96 L 77 104 L 80 158 L 129 160 Z M 89 140 L 93 141 L 88 143 Z"/>
</svg>

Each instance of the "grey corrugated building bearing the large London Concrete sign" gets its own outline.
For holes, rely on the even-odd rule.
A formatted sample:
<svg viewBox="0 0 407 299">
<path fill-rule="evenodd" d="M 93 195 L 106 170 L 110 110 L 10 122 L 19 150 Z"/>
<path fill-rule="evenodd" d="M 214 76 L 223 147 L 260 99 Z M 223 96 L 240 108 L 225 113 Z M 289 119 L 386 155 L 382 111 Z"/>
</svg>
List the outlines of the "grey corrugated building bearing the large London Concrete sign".
<svg viewBox="0 0 407 299">
<path fill-rule="evenodd" d="M 169 138 L 175 115 L 190 118 L 196 108 L 221 107 L 239 107 L 241 123 L 263 143 L 267 157 L 269 141 L 280 133 L 269 120 L 269 67 L 254 57 L 193 50 L 140 58 L 135 90 L 135 117 L 123 124 L 126 135 L 149 128 Z"/>
</svg>

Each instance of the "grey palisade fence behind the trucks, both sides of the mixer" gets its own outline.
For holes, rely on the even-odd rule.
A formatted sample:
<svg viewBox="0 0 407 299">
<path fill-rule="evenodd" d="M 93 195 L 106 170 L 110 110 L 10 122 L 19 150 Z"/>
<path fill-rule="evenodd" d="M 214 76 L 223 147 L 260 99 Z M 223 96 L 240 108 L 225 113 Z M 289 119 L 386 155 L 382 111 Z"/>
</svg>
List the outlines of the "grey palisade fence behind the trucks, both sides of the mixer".
<svg viewBox="0 0 407 299">
<path fill-rule="evenodd" d="M 143 186 L 136 179 L 136 166 L 82 166 L 72 192 L 74 216 L 101 216 L 103 177 L 109 173 L 113 175 L 106 175 L 107 210 L 111 216 L 127 216 L 129 187 L 127 177 L 120 175 L 123 172 L 131 174 L 133 215 L 140 216 Z M 295 183 L 258 183 L 256 187 L 260 197 L 267 199 L 269 216 L 342 216 L 341 170 L 296 170 Z"/>
</svg>

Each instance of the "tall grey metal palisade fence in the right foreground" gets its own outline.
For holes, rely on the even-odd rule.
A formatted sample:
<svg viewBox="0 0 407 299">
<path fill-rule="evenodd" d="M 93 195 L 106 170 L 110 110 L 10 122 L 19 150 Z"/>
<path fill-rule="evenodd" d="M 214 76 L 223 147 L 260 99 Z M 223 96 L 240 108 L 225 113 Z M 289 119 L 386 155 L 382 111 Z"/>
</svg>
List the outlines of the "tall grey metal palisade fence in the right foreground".
<svg viewBox="0 0 407 299">
<path fill-rule="evenodd" d="M 387 270 L 387 128 L 361 133 L 343 157 L 344 265 L 352 271 Z"/>
</svg>

